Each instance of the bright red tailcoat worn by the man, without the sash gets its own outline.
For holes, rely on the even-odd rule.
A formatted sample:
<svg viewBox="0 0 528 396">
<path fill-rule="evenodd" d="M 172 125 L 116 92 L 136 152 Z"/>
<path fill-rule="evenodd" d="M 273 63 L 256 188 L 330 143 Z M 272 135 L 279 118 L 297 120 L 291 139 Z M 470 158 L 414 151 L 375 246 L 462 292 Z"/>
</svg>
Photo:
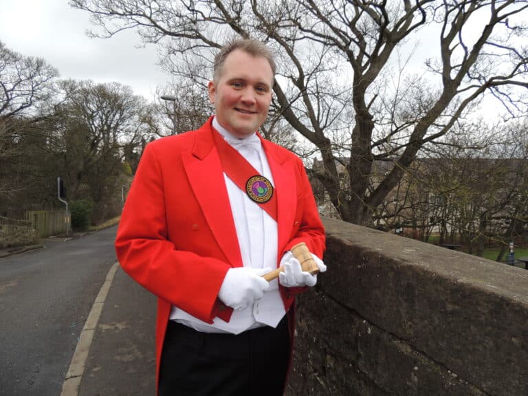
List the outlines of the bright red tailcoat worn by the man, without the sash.
<svg viewBox="0 0 528 396">
<path fill-rule="evenodd" d="M 156 384 L 171 305 L 205 322 L 229 320 L 217 295 L 230 267 L 243 265 L 211 122 L 146 146 L 115 240 L 124 271 L 158 297 Z M 325 230 L 303 163 L 261 140 L 277 197 L 278 259 L 299 242 L 322 258 Z M 286 309 L 298 291 L 281 286 Z"/>
</svg>

